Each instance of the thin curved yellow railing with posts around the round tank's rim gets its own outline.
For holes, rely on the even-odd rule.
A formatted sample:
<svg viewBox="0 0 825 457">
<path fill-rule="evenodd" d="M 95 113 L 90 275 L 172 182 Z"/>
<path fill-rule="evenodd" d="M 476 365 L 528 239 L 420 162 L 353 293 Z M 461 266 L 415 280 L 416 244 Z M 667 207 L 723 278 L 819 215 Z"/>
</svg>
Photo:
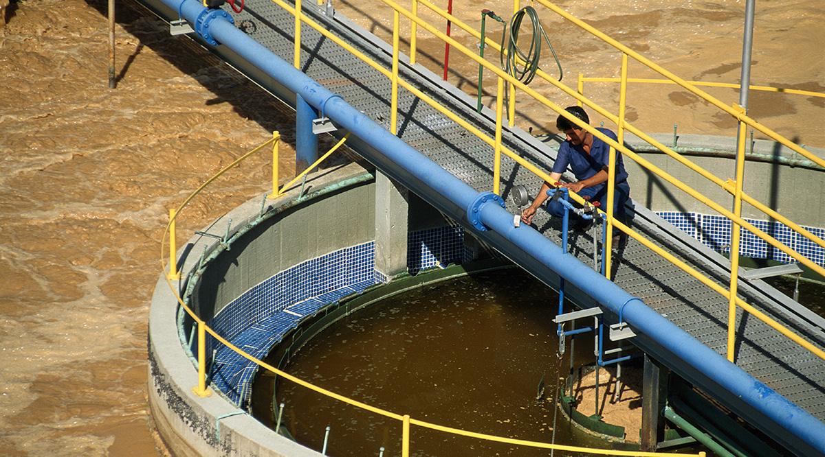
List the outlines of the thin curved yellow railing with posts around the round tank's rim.
<svg viewBox="0 0 825 457">
<path fill-rule="evenodd" d="M 168 273 L 166 274 L 166 282 L 167 282 L 167 285 L 168 285 L 169 289 L 172 291 L 172 294 L 175 296 L 175 300 L 177 301 L 177 304 L 180 305 L 181 308 L 186 311 L 186 314 L 191 317 L 191 319 L 195 322 L 195 325 L 197 326 L 197 329 L 198 329 L 198 349 L 197 349 L 197 352 L 198 352 L 198 354 L 197 354 L 198 385 L 196 385 L 195 387 L 192 388 L 192 391 L 195 394 L 197 394 L 201 397 L 207 397 L 207 396 L 211 395 L 210 389 L 206 385 L 206 333 L 209 333 L 216 341 L 218 341 L 221 344 L 224 344 L 224 346 L 226 346 L 226 347 L 229 347 L 229 349 L 231 349 L 234 352 L 237 352 L 242 357 L 246 358 L 248 361 L 252 361 L 257 366 L 259 366 L 259 367 L 261 367 L 265 370 L 271 371 L 272 373 L 281 376 L 285 380 L 289 380 L 290 382 L 294 382 L 297 385 L 300 385 L 300 386 L 305 387 L 307 389 L 313 390 L 314 392 L 317 392 L 318 394 L 323 394 L 323 395 L 325 395 L 329 398 L 336 399 L 336 400 L 341 401 L 343 403 L 350 404 L 351 406 L 355 406 L 356 408 L 361 408 L 361 409 L 364 409 L 365 411 L 369 411 L 370 413 L 375 413 L 375 414 L 378 414 L 380 416 L 389 417 L 390 419 L 394 419 L 396 421 L 401 422 L 401 426 L 402 426 L 402 455 L 404 457 L 408 457 L 408 455 L 409 455 L 409 441 L 410 441 L 410 426 L 411 425 L 415 425 L 417 427 L 429 428 L 431 430 L 436 430 L 436 431 L 443 431 L 443 432 L 450 433 L 450 434 L 453 434 L 453 435 L 469 436 L 471 438 L 476 438 L 476 439 L 485 440 L 485 441 L 494 441 L 494 442 L 505 443 L 505 444 L 509 444 L 509 445 L 522 445 L 522 446 L 535 447 L 535 448 L 541 448 L 541 449 L 564 450 L 564 451 L 568 451 L 568 452 L 587 453 L 587 454 L 590 454 L 590 455 L 639 455 L 639 456 L 650 456 L 650 457 L 655 457 L 655 456 L 658 456 L 658 457 L 669 457 L 669 456 L 683 457 L 683 456 L 688 456 L 688 455 L 698 455 L 700 457 L 705 457 L 705 452 L 699 452 L 697 454 L 655 453 L 655 452 L 636 452 L 636 451 L 628 451 L 628 450 L 597 449 L 597 448 L 587 448 L 587 447 L 572 446 L 572 445 L 557 445 L 557 444 L 553 444 L 553 443 L 544 443 L 544 442 L 540 442 L 540 441 L 519 440 L 519 439 L 515 439 L 515 438 L 509 438 L 509 437 L 506 437 L 506 436 L 488 435 L 488 434 L 479 433 L 479 432 L 476 432 L 476 431 L 466 431 L 466 430 L 461 430 L 461 429 L 455 428 L 455 427 L 446 427 L 446 426 L 443 426 L 443 425 L 440 425 L 440 424 L 422 421 L 422 420 L 410 417 L 408 414 L 393 413 L 391 411 L 388 411 L 388 410 L 385 410 L 385 409 L 382 409 L 382 408 L 377 408 L 377 407 L 372 406 L 368 403 L 363 403 L 363 402 L 360 402 L 356 399 L 351 399 L 351 398 L 349 398 L 345 395 L 337 394 L 336 392 L 332 392 L 332 390 L 324 389 L 323 387 L 319 387 L 317 385 L 309 383 L 308 381 L 302 380 L 302 379 L 300 379 L 300 378 L 298 378 L 294 375 L 290 375 L 286 371 L 282 371 L 282 370 L 276 368 L 275 366 L 272 366 L 272 365 L 266 363 L 266 361 L 262 361 L 261 359 L 258 359 L 257 357 L 253 357 L 248 352 L 243 351 L 243 349 L 241 349 L 240 347 L 237 347 L 233 343 L 229 342 L 229 340 L 227 340 L 226 338 L 221 336 L 219 333 L 214 331 L 214 329 L 211 329 L 203 319 L 200 319 L 200 316 L 197 315 L 194 310 L 192 310 L 188 305 L 186 305 L 186 302 L 183 301 L 180 293 L 178 292 L 178 288 L 175 287 L 174 284 L 172 284 L 173 280 L 180 279 L 180 272 L 177 271 L 177 259 L 175 257 L 175 247 L 176 247 L 176 245 L 175 245 L 175 231 L 176 231 L 177 217 L 180 216 L 181 211 L 184 208 L 186 208 L 189 205 L 189 203 L 191 202 L 191 200 L 193 198 L 195 198 L 198 194 L 200 194 L 200 192 L 203 191 L 203 189 L 205 189 L 206 186 L 211 184 L 214 180 L 217 180 L 220 176 L 224 175 L 224 173 L 226 173 L 226 171 L 238 166 L 238 164 L 240 164 L 242 161 L 245 161 L 249 156 L 252 156 L 256 152 L 261 151 L 264 147 L 267 147 L 269 145 L 272 145 L 272 171 L 273 171 L 272 183 L 273 183 L 273 185 L 272 185 L 272 192 L 271 192 L 271 194 L 268 195 L 268 197 L 269 198 L 277 198 L 277 197 L 281 196 L 281 194 L 284 193 L 285 189 L 289 189 L 291 185 L 295 184 L 300 178 L 302 178 L 304 175 L 309 173 L 310 170 L 313 170 L 316 166 L 320 165 L 320 163 L 323 162 L 323 160 L 326 159 L 328 156 L 330 156 L 332 154 L 332 152 L 335 152 L 338 147 L 341 147 L 341 145 L 343 144 L 344 141 L 346 141 L 348 136 L 349 135 L 347 134 L 344 138 L 342 138 L 339 142 L 337 142 L 337 144 L 335 146 L 333 146 L 332 149 L 330 149 L 330 151 L 325 153 L 321 158 L 318 159 L 318 161 L 315 161 L 314 164 L 310 165 L 306 170 L 304 170 L 302 173 L 297 175 L 295 177 L 295 179 L 291 180 L 289 183 L 284 184 L 283 186 L 281 186 L 279 188 L 278 184 L 277 184 L 277 171 L 278 171 L 277 162 L 278 162 L 278 143 L 280 142 L 281 136 L 280 136 L 279 133 L 275 132 L 275 133 L 273 133 L 271 139 L 267 140 L 266 142 L 263 142 L 261 145 L 255 147 L 251 151 L 243 154 L 243 156 L 239 156 L 238 159 L 236 159 L 235 161 L 230 163 L 228 166 L 225 166 L 223 169 L 219 170 L 218 173 L 216 173 L 215 175 L 210 177 L 209 180 L 206 180 L 204 184 L 201 184 L 200 187 L 198 187 L 194 192 L 189 194 L 183 200 L 183 203 L 181 203 L 180 206 L 178 206 L 175 209 L 170 210 L 170 212 L 169 212 L 170 213 L 170 219 L 169 219 L 169 222 L 167 223 L 166 230 L 163 232 L 163 238 L 161 240 L 160 264 L 161 264 L 162 270 L 166 271 L 167 266 L 164 264 L 163 259 L 165 258 L 164 250 L 167 247 L 166 246 L 166 240 L 167 240 L 167 237 L 168 237 L 169 243 L 170 243 L 170 245 L 169 245 L 169 247 L 170 247 L 170 249 L 169 249 L 169 260 L 170 260 L 170 262 L 169 262 L 169 266 L 168 266 Z"/>
</svg>

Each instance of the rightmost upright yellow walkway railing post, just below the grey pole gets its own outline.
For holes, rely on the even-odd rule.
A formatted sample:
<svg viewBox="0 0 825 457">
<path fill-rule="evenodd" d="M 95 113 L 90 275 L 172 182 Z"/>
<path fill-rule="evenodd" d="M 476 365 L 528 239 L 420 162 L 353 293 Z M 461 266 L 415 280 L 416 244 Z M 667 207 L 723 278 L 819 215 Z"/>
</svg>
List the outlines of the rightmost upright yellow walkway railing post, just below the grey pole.
<svg viewBox="0 0 825 457">
<path fill-rule="evenodd" d="M 741 113 L 745 110 L 740 108 Z M 736 190 L 733 192 L 733 214 L 742 215 L 742 180 L 745 177 L 745 133 L 747 125 L 739 120 L 736 148 Z M 728 361 L 733 363 L 736 343 L 736 293 L 739 279 L 739 224 L 730 222 L 730 297 L 728 300 Z"/>
</svg>

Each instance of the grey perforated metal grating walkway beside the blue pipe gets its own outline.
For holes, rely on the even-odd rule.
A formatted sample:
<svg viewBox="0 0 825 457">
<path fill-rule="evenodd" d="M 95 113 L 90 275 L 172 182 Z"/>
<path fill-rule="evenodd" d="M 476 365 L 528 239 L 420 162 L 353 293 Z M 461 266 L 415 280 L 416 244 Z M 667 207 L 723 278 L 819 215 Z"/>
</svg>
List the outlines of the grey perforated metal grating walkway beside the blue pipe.
<svg viewBox="0 0 825 457">
<path fill-rule="evenodd" d="M 314 16 L 316 21 L 334 29 L 337 36 L 381 63 L 384 68 L 390 68 L 391 49 L 387 44 L 340 15 L 330 21 L 326 16 L 316 14 L 313 6 L 304 8 L 304 12 Z M 236 16 L 236 24 L 275 54 L 288 62 L 292 61 L 294 18 L 275 3 L 270 0 L 247 0 L 244 12 Z M 303 26 L 301 38 L 302 70 L 340 94 L 350 105 L 389 128 L 389 79 L 337 44 L 324 39 L 309 26 Z M 455 88 L 444 86 L 431 72 L 419 66 L 410 68 L 403 63 L 405 60 L 402 58 L 400 64 L 405 80 L 413 82 L 442 105 L 454 107 L 455 112 L 460 112 L 470 124 L 493 137 L 495 123 L 492 113 L 487 110 L 484 115 L 477 114 L 474 100 Z M 474 189 L 480 191 L 492 187 L 492 147 L 400 87 L 398 106 L 399 137 Z M 526 137 L 524 133 L 508 132 L 505 128 L 503 143 L 526 160 L 549 169 L 554 149 Z M 525 184 L 533 192 L 541 184 L 535 175 L 502 157 L 502 192 L 505 198 L 514 183 Z M 508 205 L 509 211 L 516 212 L 512 203 L 508 202 Z M 555 222 L 549 221 L 546 212 L 536 215 L 535 224 L 544 235 L 559 242 L 558 227 Z M 725 271 L 729 268 L 727 259 L 681 234 L 647 209 L 635 210 L 633 226 L 700 272 L 714 277 L 721 284 L 729 282 L 729 274 Z M 571 245 L 582 262 L 592 263 L 592 238 L 589 235 L 573 236 Z M 728 312 L 728 301 L 724 297 L 633 240 L 629 240 L 615 256 L 614 263 L 615 282 L 620 287 L 631 295 L 639 296 L 648 306 L 724 357 Z M 800 308 L 761 281 L 741 280 L 740 284 L 740 294 L 745 301 L 804 335 L 818 347 L 825 348 L 823 319 Z M 822 361 L 758 319 L 752 316 L 742 319 L 741 310 L 738 313 L 738 366 L 814 417 L 825 420 L 825 370 Z"/>
</svg>

